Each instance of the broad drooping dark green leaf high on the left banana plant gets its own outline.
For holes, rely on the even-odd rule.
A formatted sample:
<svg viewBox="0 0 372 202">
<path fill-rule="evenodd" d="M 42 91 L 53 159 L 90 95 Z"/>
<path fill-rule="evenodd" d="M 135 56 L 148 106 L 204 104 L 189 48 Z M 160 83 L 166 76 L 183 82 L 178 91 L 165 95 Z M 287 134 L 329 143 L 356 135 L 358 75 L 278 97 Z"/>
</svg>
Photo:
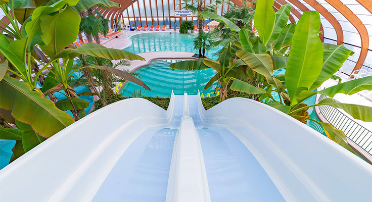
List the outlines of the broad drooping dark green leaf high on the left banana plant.
<svg viewBox="0 0 372 202">
<path fill-rule="evenodd" d="M 41 15 L 41 39 L 45 45 L 40 48 L 51 59 L 55 59 L 59 51 L 76 40 L 79 24 L 80 16 L 69 6 L 54 16 Z"/>
</svg>

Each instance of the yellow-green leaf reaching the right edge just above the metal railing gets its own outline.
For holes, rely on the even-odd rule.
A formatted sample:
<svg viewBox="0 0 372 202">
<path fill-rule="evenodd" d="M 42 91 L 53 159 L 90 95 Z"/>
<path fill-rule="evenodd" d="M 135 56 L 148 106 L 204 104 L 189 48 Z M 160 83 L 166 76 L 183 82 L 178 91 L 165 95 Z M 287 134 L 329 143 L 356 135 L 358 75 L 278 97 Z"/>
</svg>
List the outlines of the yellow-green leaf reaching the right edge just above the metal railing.
<svg viewBox="0 0 372 202">
<path fill-rule="evenodd" d="M 332 97 L 320 100 L 317 105 L 329 105 L 340 108 L 350 114 L 354 119 L 372 122 L 372 107 L 340 103 Z"/>
</svg>

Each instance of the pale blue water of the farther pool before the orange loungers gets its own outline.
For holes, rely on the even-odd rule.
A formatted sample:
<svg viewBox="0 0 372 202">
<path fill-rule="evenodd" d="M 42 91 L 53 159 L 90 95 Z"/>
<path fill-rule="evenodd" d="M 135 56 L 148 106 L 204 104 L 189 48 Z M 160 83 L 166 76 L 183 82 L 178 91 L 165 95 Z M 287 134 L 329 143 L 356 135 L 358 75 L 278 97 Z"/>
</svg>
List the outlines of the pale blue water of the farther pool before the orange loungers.
<svg viewBox="0 0 372 202">
<path fill-rule="evenodd" d="M 130 36 L 131 44 L 124 48 L 124 51 L 131 53 L 147 53 L 155 51 L 180 51 L 180 52 L 192 52 L 199 53 L 197 49 L 194 49 L 193 39 L 196 37 L 195 34 L 180 34 L 180 33 L 169 33 L 169 32 L 154 32 L 154 33 L 143 33 Z M 222 46 L 212 48 L 209 52 L 206 52 L 206 56 L 213 60 L 218 58 L 215 55 L 221 49 Z"/>
</svg>

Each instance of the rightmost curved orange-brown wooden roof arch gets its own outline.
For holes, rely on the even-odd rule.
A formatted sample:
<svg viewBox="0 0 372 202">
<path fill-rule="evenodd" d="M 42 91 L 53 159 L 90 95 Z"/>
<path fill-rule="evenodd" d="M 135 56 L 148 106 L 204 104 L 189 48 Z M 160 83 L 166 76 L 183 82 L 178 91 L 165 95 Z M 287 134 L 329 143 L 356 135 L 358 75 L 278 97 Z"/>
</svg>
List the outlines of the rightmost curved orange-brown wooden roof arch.
<svg viewBox="0 0 372 202">
<path fill-rule="evenodd" d="M 360 70 L 368 53 L 369 38 L 368 38 L 367 29 L 365 28 L 363 23 L 360 21 L 360 19 L 340 0 L 325 0 L 325 1 L 328 2 L 328 4 L 330 4 L 333 8 L 335 8 L 338 12 L 340 12 L 358 31 L 360 40 L 361 40 L 360 55 L 352 72 Z M 359 1 L 362 2 L 362 0 L 359 0 Z M 364 5 L 366 6 L 366 4 Z"/>
</svg>

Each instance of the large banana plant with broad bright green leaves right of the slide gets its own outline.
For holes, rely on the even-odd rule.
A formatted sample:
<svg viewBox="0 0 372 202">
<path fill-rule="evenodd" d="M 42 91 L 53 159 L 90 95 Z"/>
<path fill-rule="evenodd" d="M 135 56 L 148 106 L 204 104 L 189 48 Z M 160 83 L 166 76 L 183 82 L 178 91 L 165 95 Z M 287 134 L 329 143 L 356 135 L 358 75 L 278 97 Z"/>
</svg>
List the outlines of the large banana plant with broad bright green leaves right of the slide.
<svg viewBox="0 0 372 202">
<path fill-rule="evenodd" d="M 371 107 L 343 104 L 332 98 L 336 93 L 353 94 L 360 90 L 372 89 L 372 76 L 314 91 L 324 81 L 334 78 L 333 74 L 341 68 L 348 56 L 353 54 L 343 45 L 322 45 L 318 37 L 319 13 L 305 12 L 297 25 L 287 25 L 291 6 L 283 5 L 276 13 L 272 6 L 273 0 L 257 1 L 254 21 L 259 36 L 249 35 L 245 28 L 240 29 L 224 17 L 202 12 L 202 15 L 222 21 L 230 30 L 239 34 L 239 40 L 229 42 L 234 43 L 238 49 L 235 57 L 228 62 L 235 64 L 237 69 L 247 67 L 247 71 L 242 72 L 247 79 L 242 80 L 236 75 L 231 75 L 229 79 L 234 82 L 230 88 L 250 93 L 253 95 L 252 98 L 304 123 L 306 120 L 312 120 L 307 115 L 307 109 L 319 105 L 337 107 L 355 119 L 372 121 Z M 226 48 L 230 48 L 230 44 L 226 45 Z M 200 61 L 189 62 L 182 68 L 177 63 L 171 64 L 171 67 L 181 70 L 197 70 L 203 65 L 207 66 L 212 63 L 206 59 L 198 60 Z M 274 75 L 274 72 L 280 68 L 286 69 L 285 74 Z M 242 77 L 242 75 L 239 76 Z M 215 76 L 211 81 L 221 82 L 221 79 L 226 80 L 226 78 Z M 272 96 L 274 92 L 277 98 Z M 304 101 L 317 93 L 330 97 L 321 100 L 316 105 L 307 106 Z M 224 94 L 221 93 L 221 96 Z M 312 121 L 320 124 L 330 139 L 355 154 L 347 144 L 343 131 L 335 129 L 328 123 Z"/>
</svg>

